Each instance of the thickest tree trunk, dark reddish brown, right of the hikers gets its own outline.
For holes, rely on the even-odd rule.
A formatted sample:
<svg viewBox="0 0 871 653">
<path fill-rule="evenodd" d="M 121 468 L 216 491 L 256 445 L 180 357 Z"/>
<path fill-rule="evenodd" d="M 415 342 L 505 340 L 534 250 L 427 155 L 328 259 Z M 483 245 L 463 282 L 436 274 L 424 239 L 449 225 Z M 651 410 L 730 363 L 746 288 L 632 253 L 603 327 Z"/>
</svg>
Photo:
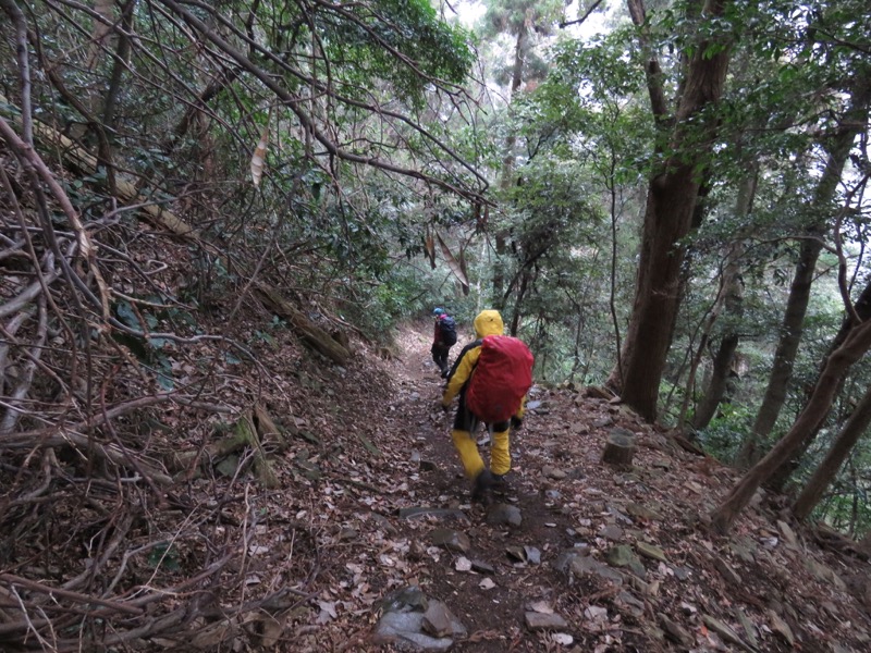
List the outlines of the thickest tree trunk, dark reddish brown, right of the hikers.
<svg viewBox="0 0 871 653">
<path fill-rule="evenodd" d="M 637 0 L 633 2 L 640 4 Z M 700 20 L 719 21 L 727 4 L 726 0 L 708 0 Z M 637 11 L 633 12 L 636 22 L 638 15 Z M 704 130 L 702 134 L 690 134 L 688 123 L 720 99 L 728 66 L 728 47 L 719 50 L 714 47 L 716 53 L 707 54 L 709 47 L 716 45 L 702 41 L 694 50 L 666 163 L 649 184 L 635 300 L 621 356 L 623 370 L 615 369 L 609 379 L 609 384 L 619 390 L 623 401 L 647 421 L 657 418 L 659 386 L 682 299 L 684 247 L 680 241 L 692 224 L 701 186 L 698 165 L 710 153 L 715 134 L 712 122 L 696 127 Z M 651 79 L 651 67 L 649 86 L 659 84 Z M 662 111 L 658 104 L 661 97 L 657 95 L 660 90 L 651 88 L 657 115 Z M 690 136 L 692 147 L 688 148 Z M 686 151 L 682 151 L 685 147 Z"/>
</svg>

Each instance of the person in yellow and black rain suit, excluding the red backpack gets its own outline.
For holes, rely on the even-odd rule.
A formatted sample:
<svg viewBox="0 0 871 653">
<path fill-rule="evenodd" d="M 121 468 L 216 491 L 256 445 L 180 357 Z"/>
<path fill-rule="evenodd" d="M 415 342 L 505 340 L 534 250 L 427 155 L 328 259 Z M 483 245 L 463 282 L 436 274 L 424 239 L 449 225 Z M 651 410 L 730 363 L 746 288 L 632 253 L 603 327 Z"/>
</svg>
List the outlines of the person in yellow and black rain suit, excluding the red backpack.
<svg viewBox="0 0 871 653">
<path fill-rule="evenodd" d="M 492 423 L 493 434 L 490 445 L 490 469 L 483 464 L 481 455 L 478 453 L 477 442 L 473 439 L 473 433 L 480 423 L 480 419 L 466 407 L 466 390 L 478 358 L 481 353 L 481 341 L 488 335 L 502 335 L 504 329 L 502 316 L 496 310 L 484 310 L 475 318 L 475 335 L 478 340 L 466 345 L 459 353 L 451 372 L 447 375 L 447 383 L 442 395 L 442 408 L 447 410 L 455 396 L 459 396 L 459 405 L 454 417 L 453 431 L 451 436 L 454 447 L 459 454 L 466 476 L 473 479 L 473 498 L 484 498 L 484 494 L 511 469 L 511 451 L 508 446 L 508 430 L 513 426 L 519 428 L 524 417 L 523 398 L 517 411 L 506 421 Z"/>
</svg>

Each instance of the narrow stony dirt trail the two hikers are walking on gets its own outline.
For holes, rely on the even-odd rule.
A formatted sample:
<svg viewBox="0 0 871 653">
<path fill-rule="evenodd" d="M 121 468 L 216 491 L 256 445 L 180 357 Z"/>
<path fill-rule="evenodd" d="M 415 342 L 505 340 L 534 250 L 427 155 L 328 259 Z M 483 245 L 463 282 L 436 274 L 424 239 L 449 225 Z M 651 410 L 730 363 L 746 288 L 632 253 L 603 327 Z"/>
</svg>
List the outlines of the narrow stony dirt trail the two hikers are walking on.
<svg viewBox="0 0 871 653">
<path fill-rule="evenodd" d="M 454 650 L 556 650 L 552 633 L 530 632 L 525 627 L 525 613 L 533 604 L 555 609 L 565 600 L 565 581 L 551 566 L 541 563 L 573 546 L 573 526 L 577 526 L 572 510 L 559 501 L 560 490 L 542 476 L 542 466 L 551 458 L 549 452 L 557 447 L 559 441 L 544 442 L 548 427 L 530 411 L 524 428 L 512 433 L 513 469 L 507 476 L 507 490 L 495 496 L 496 503 L 519 509 L 522 523 L 488 522 L 492 506 L 488 509 L 469 501 L 470 482 L 462 473 L 451 442 L 455 406 L 447 414 L 439 408 L 444 382 L 429 358 L 428 338 L 406 332 L 401 346 L 396 372 L 403 391 L 395 408 L 400 423 L 416 424 L 415 434 L 409 438 L 414 447 L 410 455 L 422 461 L 421 470 L 409 478 L 413 507 L 454 509 L 466 516 L 407 520 L 406 532 L 426 545 L 425 555 L 429 557 L 416 580 L 428 595 L 444 601 L 467 627 L 469 639 L 458 642 Z M 458 344 L 452 354 L 461 348 Z M 531 398 L 541 395 L 543 391 L 533 390 Z M 486 431 L 479 430 L 476 435 L 483 441 Z M 489 461 L 489 446 L 482 443 L 479 448 Z M 559 476 L 560 470 L 554 475 Z M 465 533 L 470 550 L 458 553 L 430 546 L 427 537 L 437 528 Z M 487 570 L 464 571 L 463 558 Z M 572 639 L 578 641 L 574 636 Z"/>
</svg>

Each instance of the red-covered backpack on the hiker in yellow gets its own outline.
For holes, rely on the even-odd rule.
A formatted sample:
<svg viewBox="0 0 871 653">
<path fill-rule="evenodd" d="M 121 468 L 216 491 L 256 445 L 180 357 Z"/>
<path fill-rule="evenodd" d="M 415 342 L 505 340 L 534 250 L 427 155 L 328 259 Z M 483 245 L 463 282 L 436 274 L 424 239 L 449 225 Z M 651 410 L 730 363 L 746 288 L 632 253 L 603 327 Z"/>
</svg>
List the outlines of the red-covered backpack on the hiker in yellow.
<svg viewBox="0 0 871 653">
<path fill-rule="evenodd" d="M 481 421 L 507 421 L 532 387 L 532 353 L 510 335 L 488 335 L 466 391 L 466 407 Z"/>
</svg>

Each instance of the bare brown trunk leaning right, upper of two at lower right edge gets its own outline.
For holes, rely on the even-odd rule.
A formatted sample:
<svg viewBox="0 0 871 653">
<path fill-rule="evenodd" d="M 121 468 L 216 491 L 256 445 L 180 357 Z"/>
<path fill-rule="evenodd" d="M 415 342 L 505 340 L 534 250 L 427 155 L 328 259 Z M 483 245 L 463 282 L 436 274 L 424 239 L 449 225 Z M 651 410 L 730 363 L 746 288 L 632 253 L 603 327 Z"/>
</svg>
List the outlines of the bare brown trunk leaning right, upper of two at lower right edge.
<svg viewBox="0 0 871 653">
<path fill-rule="evenodd" d="M 727 533 L 738 514 L 749 503 L 757 489 L 772 472 L 792 456 L 807 434 L 820 428 L 832 407 L 837 385 L 849 370 L 871 347 L 871 322 L 856 326 L 825 362 L 825 368 L 813 387 L 807 405 L 789 432 L 738 481 L 725 501 L 711 514 L 711 527 Z"/>
</svg>

